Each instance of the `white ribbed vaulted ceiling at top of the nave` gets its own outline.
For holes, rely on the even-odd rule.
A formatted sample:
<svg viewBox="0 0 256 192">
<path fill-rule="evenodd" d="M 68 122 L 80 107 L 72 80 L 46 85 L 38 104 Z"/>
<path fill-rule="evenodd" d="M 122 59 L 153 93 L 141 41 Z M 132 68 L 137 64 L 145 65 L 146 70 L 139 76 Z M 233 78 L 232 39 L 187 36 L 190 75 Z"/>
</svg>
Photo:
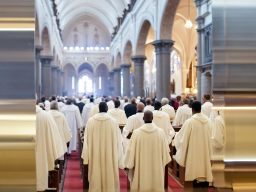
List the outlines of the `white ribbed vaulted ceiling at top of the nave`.
<svg viewBox="0 0 256 192">
<path fill-rule="evenodd" d="M 81 22 L 81 18 L 85 21 L 94 18 L 92 22 L 97 21 L 98 25 L 104 25 L 111 35 L 113 28 L 118 24 L 117 18 L 128 8 L 130 0 L 55 0 L 55 3 L 62 30 L 74 24 L 76 20 Z"/>
</svg>

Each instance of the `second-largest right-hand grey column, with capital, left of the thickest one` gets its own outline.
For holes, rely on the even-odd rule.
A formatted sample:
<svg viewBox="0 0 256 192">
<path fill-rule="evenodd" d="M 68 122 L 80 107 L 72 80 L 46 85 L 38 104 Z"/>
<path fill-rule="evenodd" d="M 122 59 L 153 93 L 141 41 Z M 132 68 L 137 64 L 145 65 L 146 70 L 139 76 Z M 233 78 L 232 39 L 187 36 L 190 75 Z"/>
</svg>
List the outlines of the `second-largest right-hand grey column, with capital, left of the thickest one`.
<svg viewBox="0 0 256 192">
<path fill-rule="evenodd" d="M 144 61 L 146 56 L 132 56 L 134 62 L 134 96 L 144 97 Z"/>
</svg>

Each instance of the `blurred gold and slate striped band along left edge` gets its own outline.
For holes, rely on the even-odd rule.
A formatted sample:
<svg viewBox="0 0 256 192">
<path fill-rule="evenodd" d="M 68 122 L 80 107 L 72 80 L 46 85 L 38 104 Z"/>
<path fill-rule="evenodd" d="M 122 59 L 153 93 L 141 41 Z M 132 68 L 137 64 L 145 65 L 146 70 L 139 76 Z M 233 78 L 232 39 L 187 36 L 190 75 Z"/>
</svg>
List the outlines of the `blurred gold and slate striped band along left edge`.
<svg viewBox="0 0 256 192">
<path fill-rule="evenodd" d="M 1 192 L 36 191 L 34 9 L 0 0 Z"/>
</svg>

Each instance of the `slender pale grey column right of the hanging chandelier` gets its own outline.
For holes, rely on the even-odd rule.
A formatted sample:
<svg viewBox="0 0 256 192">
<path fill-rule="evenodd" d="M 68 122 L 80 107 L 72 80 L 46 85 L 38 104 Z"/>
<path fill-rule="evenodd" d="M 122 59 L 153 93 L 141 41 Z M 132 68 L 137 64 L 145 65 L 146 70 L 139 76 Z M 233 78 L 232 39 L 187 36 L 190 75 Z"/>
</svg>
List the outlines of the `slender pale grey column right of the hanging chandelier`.
<svg viewBox="0 0 256 192">
<path fill-rule="evenodd" d="M 202 25 L 204 24 L 204 18 L 203 17 L 197 17 L 196 22 L 198 24 L 198 28 L 196 29 L 198 37 L 197 37 L 197 70 L 196 70 L 196 76 L 197 76 L 197 100 L 202 102 L 202 86 L 201 86 L 201 74 L 202 69 L 200 68 L 200 65 L 202 65 L 202 34 L 204 30 L 202 29 Z"/>
</svg>

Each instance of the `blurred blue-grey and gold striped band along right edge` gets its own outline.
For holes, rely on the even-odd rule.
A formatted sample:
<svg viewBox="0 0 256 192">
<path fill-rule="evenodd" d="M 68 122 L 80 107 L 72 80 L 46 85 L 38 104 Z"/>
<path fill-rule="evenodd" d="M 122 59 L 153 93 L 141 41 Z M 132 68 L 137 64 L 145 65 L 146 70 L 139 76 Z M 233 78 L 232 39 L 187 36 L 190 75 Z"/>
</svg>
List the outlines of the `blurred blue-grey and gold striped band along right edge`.
<svg viewBox="0 0 256 192">
<path fill-rule="evenodd" d="M 256 1 L 212 0 L 214 110 L 226 122 L 214 186 L 256 191 Z"/>
</svg>

